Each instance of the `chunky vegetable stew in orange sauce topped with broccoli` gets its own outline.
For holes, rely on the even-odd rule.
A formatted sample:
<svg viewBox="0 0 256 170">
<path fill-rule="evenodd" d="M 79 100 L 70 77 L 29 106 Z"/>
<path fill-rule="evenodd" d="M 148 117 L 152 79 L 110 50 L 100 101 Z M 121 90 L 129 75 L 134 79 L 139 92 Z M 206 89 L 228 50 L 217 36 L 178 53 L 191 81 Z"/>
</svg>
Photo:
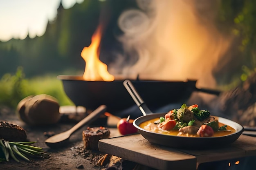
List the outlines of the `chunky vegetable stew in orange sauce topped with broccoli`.
<svg viewBox="0 0 256 170">
<path fill-rule="evenodd" d="M 147 120 L 139 127 L 164 135 L 186 137 L 220 137 L 236 132 L 231 126 L 210 116 L 209 110 L 200 110 L 197 104 L 183 104 L 181 108 L 169 111 L 164 117 Z"/>
</svg>

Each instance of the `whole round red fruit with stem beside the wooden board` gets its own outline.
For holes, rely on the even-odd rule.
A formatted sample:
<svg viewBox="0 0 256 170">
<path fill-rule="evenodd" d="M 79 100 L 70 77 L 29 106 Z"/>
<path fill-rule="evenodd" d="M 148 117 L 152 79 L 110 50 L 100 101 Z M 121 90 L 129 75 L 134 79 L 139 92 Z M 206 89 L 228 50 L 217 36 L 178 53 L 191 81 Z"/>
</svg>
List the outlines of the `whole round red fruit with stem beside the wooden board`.
<svg viewBox="0 0 256 170">
<path fill-rule="evenodd" d="M 127 118 L 122 118 L 117 123 L 117 129 L 122 135 L 128 135 L 137 133 L 138 129 L 133 126 L 133 119 L 130 119 L 130 115 Z"/>
</svg>

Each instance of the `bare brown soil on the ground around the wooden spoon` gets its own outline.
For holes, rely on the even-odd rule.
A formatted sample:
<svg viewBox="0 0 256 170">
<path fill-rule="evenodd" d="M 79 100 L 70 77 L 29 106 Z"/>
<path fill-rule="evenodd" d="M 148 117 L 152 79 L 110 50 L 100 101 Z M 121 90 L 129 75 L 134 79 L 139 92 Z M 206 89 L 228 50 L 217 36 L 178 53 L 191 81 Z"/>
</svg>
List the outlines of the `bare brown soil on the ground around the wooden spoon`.
<svg viewBox="0 0 256 170">
<path fill-rule="evenodd" d="M 24 122 L 20 121 L 13 110 L 8 108 L 0 108 L 0 121 L 7 121 L 11 124 L 16 124 L 26 130 L 27 140 L 36 141 L 33 146 L 42 147 L 45 151 L 51 155 L 47 159 L 36 159 L 30 162 L 21 160 L 16 162 L 10 159 L 8 162 L 0 162 L 0 169 L 4 170 L 100 170 L 106 169 L 108 165 L 99 165 L 99 159 L 101 159 L 105 153 L 84 150 L 82 141 L 82 131 L 88 126 L 81 128 L 71 135 L 68 141 L 52 146 L 51 148 L 45 144 L 45 139 L 50 135 L 58 134 L 69 130 L 76 124 L 76 122 L 59 122 L 51 126 L 28 126 Z M 91 125 L 90 127 L 93 127 Z M 95 125 L 96 126 L 96 125 Z M 112 135 L 112 136 L 111 136 Z M 110 128 L 110 137 L 117 136 L 118 132 L 116 128 Z M 120 161 L 121 163 L 121 161 Z"/>
</svg>

